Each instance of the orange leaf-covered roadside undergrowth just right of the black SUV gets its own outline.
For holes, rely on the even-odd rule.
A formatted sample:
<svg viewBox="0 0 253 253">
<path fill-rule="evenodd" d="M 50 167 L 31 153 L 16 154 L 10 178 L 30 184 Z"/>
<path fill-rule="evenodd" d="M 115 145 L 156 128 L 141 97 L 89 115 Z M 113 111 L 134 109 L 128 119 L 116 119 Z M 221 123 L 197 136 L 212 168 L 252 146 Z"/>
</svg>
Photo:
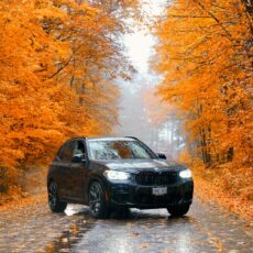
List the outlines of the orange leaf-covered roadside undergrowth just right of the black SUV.
<svg viewBox="0 0 253 253">
<path fill-rule="evenodd" d="M 221 173 L 222 170 L 222 168 L 206 169 L 205 172 L 195 170 L 197 198 L 202 201 L 216 202 L 245 219 L 253 219 L 252 187 L 248 185 L 245 179 L 240 182 L 240 176 L 227 175 L 226 177 L 224 173 Z M 238 182 L 237 187 L 234 180 Z"/>
</svg>

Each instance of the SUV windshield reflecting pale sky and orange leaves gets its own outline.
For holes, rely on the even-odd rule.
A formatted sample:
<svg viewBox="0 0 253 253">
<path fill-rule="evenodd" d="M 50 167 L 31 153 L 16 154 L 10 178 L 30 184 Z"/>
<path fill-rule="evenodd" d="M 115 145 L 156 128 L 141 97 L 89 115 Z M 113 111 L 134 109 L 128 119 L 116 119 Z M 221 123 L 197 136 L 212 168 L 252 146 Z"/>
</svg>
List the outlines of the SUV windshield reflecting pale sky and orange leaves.
<svg viewBox="0 0 253 253">
<path fill-rule="evenodd" d="M 91 160 L 150 160 L 155 154 L 139 141 L 88 141 Z"/>
</svg>

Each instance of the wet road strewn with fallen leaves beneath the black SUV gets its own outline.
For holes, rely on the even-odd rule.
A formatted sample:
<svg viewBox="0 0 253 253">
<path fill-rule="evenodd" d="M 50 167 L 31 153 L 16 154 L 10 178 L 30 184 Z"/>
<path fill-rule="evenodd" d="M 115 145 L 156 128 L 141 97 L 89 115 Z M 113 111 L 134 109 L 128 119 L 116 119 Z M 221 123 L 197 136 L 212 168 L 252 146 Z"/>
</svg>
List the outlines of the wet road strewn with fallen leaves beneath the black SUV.
<svg viewBox="0 0 253 253">
<path fill-rule="evenodd" d="M 252 223 L 220 207 L 195 200 L 184 218 L 166 209 L 140 211 L 128 217 L 113 213 L 95 220 L 82 206 L 66 213 L 51 213 L 41 204 L 11 219 L 1 217 L 0 252 L 253 252 Z"/>
</svg>

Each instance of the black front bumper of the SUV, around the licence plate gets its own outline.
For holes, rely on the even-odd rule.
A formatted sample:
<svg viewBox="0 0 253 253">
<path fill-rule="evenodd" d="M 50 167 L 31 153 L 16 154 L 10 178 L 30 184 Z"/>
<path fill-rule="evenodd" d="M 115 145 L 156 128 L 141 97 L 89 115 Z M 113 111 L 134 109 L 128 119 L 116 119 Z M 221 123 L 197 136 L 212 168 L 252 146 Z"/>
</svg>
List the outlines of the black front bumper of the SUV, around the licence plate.
<svg viewBox="0 0 253 253">
<path fill-rule="evenodd" d="M 167 194 L 152 195 L 152 188 L 158 186 L 141 186 L 134 184 L 109 183 L 108 195 L 111 206 L 139 209 L 167 208 L 169 206 L 193 201 L 194 182 L 182 180 L 176 185 L 167 185 Z"/>
</svg>

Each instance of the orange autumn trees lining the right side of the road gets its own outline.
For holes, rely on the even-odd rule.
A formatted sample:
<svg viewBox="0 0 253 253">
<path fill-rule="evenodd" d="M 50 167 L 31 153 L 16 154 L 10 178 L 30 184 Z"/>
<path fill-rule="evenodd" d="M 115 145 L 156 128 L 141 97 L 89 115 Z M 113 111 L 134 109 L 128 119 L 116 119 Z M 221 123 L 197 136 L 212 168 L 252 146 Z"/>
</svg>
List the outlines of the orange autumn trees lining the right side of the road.
<svg viewBox="0 0 253 253">
<path fill-rule="evenodd" d="M 220 168 L 234 189 L 253 176 L 252 12 L 251 0 L 175 0 L 156 30 L 158 94 L 184 118 L 185 162 Z"/>
</svg>

